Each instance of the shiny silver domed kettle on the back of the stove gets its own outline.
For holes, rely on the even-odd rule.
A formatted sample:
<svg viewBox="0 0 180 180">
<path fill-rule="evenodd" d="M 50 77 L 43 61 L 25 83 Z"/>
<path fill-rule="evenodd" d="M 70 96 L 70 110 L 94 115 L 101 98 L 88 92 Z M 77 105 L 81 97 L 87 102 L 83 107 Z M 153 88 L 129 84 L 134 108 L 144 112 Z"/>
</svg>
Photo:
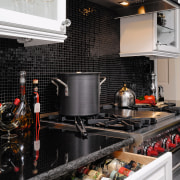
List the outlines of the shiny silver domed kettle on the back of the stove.
<svg viewBox="0 0 180 180">
<path fill-rule="evenodd" d="M 133 90 L 126 87 L 126 84 L 115 94 L 115 106 L 127 108 L 135 105 L 136 94 Z"/>
</svg>

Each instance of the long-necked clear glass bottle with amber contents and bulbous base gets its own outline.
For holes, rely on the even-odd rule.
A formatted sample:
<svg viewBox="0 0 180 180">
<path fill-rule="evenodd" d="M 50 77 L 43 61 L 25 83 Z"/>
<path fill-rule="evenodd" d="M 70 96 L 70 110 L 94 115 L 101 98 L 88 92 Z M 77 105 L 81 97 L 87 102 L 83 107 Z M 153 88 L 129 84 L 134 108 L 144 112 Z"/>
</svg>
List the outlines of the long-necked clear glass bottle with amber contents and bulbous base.
<svg viewBox="0 0 180 180">
<path fill-rule="evenodd" d="M 25 97 L 26 72 L 20 71 L 20 105 L 16 111 L 15 119 L 19 121 L 19 129 L 30 128 L 33 123 L 31 109 Z"/>
</svg>

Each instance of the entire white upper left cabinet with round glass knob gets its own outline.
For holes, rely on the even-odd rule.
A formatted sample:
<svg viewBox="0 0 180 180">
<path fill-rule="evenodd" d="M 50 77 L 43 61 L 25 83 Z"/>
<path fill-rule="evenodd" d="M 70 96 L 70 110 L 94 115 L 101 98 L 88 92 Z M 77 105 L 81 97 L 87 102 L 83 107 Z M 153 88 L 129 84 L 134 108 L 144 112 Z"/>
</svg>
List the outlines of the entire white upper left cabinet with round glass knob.
<svg viewBox="0 0 180 180">
<path fill-rule="evenodd" d="M 64 42 L 68 25 L 66 0 L 0 1 L 0 36 L 25 46 Z"/>
</svg>

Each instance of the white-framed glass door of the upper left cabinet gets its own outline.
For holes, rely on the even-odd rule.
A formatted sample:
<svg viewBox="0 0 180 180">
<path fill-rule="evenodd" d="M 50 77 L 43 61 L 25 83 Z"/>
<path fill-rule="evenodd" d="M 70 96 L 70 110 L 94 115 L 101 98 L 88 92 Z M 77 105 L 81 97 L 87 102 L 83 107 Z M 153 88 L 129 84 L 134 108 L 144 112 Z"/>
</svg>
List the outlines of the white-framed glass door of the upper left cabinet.
<svg viewBox="0 0 180 180">
<path fill-rule="evenodd" d="M 0 22 L 5 25 L 65 33 L 61 24 L 66 19 L 66 0 L 5 0 L 0 7 Z"/>
</svg>

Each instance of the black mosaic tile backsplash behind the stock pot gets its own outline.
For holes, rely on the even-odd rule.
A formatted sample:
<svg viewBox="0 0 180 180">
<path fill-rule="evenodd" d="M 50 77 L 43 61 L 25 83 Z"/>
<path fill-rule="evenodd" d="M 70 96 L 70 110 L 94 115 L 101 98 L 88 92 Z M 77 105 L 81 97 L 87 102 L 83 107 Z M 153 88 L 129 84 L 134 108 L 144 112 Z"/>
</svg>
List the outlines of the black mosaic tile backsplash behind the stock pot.
<svg viewBox="0 0 180 180">
<path fill-rule="evenodd" d="M 84 9 L 89 9 L 85 13 Z M 64 43 L 24 48 L 11 39 L 0 39 L 0 102 L 19 96 L 19 71 L 27 72 L 26 96 L 32 80 L 39 79 L 41 112 L 56 111 L 56 90 L 51 78 L 59 72 L 101 72 L 101 104 L 114 101 L 124 82 L 137 96 L 149 94 L 153 61 L 146 57 L 119 57 L 119 20 L 116 14 L 86 0 L 67 0 L 67 28 Z"/>
</svg>

